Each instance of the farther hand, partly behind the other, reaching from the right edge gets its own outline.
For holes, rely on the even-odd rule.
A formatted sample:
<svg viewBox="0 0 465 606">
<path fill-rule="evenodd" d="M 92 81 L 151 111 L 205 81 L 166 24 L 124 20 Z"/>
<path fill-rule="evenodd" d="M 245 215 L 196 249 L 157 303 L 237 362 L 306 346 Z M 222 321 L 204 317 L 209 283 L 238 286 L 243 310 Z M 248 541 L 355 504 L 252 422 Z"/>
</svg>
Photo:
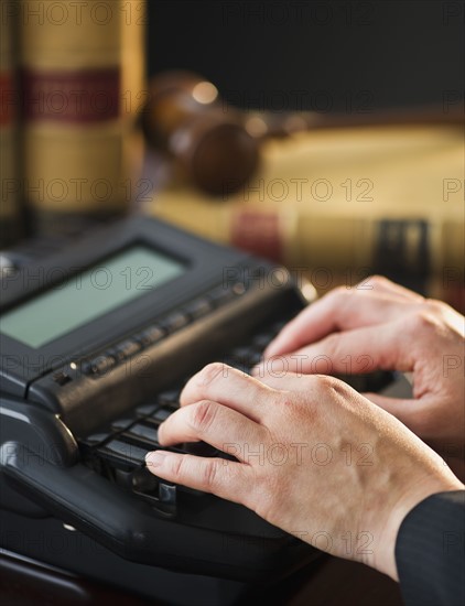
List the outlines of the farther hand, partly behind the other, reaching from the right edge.
<svg viewBox="0 0 465 606">
<path fill-rule="evenodd" d="M 264 351 L 273 374 L 413 374 L 413 399 L 366 393 L 441 453 L 465 440 L 464 317 L 381 277 L 306 307 Z M 263 371 L 263 366 L 258 374 Z M 463 457 L 463 455 L 462 455 Z"/>
</svg>

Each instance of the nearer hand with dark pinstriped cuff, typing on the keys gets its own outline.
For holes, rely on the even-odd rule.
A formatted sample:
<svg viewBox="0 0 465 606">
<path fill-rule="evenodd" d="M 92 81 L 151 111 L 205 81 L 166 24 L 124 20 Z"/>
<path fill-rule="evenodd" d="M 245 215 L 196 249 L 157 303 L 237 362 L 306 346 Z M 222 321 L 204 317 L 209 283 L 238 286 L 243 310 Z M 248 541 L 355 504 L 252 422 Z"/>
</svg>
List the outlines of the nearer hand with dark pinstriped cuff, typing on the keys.
<svg viewBox="0 0 465 606">
<path fill-rule="evenodd" d="M 404 516 L 429 495 L 463 485 L 404 425 L 343 381 L 295 375 L 262 381 L 209 365 L 160 425 L 162 445 L 203 440 L 238 462 L 156 451 L 148 468 L 397 578 Z"/>
</svg>

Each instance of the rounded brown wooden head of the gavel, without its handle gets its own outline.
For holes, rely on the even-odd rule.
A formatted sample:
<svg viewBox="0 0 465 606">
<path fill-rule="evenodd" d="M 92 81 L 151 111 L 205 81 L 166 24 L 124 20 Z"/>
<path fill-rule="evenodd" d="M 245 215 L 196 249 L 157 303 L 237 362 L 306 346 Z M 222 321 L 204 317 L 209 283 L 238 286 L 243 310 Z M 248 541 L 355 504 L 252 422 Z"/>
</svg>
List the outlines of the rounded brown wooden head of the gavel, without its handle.
<svg viewBox="0 0 465 606">
<path fill-rule="evenodd" d="M 257 170 L 258 142 L 239 111 L 220 104 L 216 87 L 190 72 L 152 79 L 142 116 L 145 137 L 172 156 L 201 190 L 219 195 L 240 188 Z"/>
</svg>

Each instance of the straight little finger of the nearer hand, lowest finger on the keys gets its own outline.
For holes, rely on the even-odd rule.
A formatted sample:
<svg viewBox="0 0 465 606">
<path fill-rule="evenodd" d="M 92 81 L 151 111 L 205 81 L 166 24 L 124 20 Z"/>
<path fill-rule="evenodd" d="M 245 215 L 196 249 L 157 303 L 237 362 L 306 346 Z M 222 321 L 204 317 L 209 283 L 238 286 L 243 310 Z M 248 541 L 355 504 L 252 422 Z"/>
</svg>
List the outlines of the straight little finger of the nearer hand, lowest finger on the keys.
<svg viewBox="0 0 465 606">
<path fill-rule="evenodd" d="M 154 451 L 145 456 L 153 475 L 218 497 L 247 505 L 252 472 L 248 465 L 221 458 Z"/>
</svg>

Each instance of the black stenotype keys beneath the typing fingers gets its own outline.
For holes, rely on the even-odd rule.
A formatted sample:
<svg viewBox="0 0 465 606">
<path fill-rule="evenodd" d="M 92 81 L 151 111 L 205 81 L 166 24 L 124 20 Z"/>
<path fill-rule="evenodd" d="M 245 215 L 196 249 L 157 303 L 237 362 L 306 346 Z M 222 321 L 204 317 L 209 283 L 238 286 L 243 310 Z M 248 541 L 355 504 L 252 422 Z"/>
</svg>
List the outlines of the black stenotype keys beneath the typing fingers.
<svg viewBox="0 0 465 606">
<path fill-rule="evenodd" d="M 268 324 L 242 343 L 225 351 L 217 361 L 249 375 L 262 357 L 268 344 L 281 331 L 290 317 L 281 317 Z M 215 361 L 212 359 L 210 361 Z M 199 370 L 201 368 L 198 368 Z M 110 481 L 129 490 L 137 498 L 150 502 L 164 516 L 174 517 L 181 493 L 201 496 L 201 491 L 176 486 L 158 479 L 145 468 L 148 451 L 155 448 L 198 456 L 215 456 L 234 459 L 228 454 L 203 442 L 161 446 L 158 442 L 158 428 L 180 407 L 180 394 L 188 377 L 170 386 L 145 401 L 134 405 L 98 431 L 78 439 L 84 463 Z"/>
</svg>

